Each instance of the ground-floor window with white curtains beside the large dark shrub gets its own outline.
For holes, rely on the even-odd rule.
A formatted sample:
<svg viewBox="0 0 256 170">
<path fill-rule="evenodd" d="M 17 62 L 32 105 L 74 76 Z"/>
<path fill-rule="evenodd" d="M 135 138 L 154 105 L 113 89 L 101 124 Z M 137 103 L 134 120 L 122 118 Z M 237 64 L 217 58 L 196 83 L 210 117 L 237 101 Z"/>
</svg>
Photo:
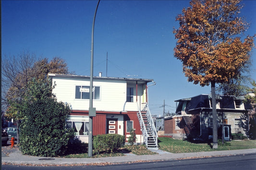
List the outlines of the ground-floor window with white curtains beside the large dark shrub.
<svg viewBox="0 0 256 170">
<path fill-rule="evenodd" d="M 67 120 L 67 128 L 73 128 L 75 136 L 86 136 L 89 133 L 88 117 L 70 116 Z"/>
</svg>

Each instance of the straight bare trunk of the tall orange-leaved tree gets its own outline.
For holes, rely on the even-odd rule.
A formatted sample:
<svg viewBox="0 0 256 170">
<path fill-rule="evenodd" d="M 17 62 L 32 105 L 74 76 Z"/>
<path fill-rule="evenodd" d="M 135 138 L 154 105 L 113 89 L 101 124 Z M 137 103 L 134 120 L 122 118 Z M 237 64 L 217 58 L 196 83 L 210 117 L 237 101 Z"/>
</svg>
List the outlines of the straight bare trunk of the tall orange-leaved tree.
<svg viewBox="0 0 256 170">
<path fill-rule="evenodd" d="M 211 82 L 211 96 L 212 96 L 212 135 L 213 135 L 212 148 L 218 149 L 218 127 L 217 127 L 215 82 Z"/>
</svg>

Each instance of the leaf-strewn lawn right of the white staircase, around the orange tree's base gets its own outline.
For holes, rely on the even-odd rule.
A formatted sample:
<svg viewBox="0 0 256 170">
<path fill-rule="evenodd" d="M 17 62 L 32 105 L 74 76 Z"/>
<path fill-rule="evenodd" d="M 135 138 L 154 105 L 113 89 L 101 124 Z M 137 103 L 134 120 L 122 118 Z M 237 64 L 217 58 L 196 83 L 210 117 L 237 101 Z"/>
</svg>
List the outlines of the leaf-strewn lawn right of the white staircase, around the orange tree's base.
<svg viewBox="0 0 256 170">
<path fill-rule="evenodd" d="M 256 140 L 232 140 L 224 146 L 218 145 L 218 149 L 211 149 L 207 143 L 191 143 L 187 140 L 173 138 L 158 138 L 159 149 L 171 153 L 203 152 L 216 150 L 235 150 L 256 148 Z M 212 143 L 211 143 L 212 145 Z M 230 146 L 227 146 L 230 145 Z"/>
</svg>

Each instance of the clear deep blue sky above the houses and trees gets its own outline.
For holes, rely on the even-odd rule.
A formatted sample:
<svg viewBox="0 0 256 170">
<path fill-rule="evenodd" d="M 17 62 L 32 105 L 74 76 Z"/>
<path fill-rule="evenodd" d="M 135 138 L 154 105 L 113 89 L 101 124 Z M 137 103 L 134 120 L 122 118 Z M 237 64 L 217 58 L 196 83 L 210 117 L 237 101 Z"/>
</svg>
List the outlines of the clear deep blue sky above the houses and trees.
<svg viewBox="0 0 256 170">
<path fill-rule="evenodd" d="M 90 75 L 91 31 L 97 0 L 2 0 L 2 58 L 22 51 L 51 60 L 58 56 L 78 75 Z M 244 0 L 241 15 L 256 33 L 256 0 Z M 187 82 L 173 57 L 175 17 L 188 0 L 101 0 L 94 31 L 94 75 L 151 78 L 152 114 L 175 112 L 174 100 L 209 94 L 210 87 Z M 252 52 L 252 59 L 256 49 Z M 251 77 L 256 80 L 256 61 Z"/>
</svg>

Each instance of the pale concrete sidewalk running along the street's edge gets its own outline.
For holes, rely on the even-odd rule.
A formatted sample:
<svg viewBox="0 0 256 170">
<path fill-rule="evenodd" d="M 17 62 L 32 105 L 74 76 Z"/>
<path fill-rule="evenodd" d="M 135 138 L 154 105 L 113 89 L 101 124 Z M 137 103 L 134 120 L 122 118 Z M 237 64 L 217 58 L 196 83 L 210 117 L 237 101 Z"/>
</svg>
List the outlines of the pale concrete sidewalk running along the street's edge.
<svg viewBox="0 0 256 170">
<path fill-rule="evenodd" d="M 154 151 L 154 150 L 152 150 Z M 174 159 L 195 159 L 215 156 L 228 156 L 238 154 L 256 153 L 256 149 L 223 150 L 192 153 L 170 153 L 157 150 L 158 155 L 127 154 L 122 157 L 106 158 L 45 158 L 23 155 L 20 150 L 14 149 L 8 156 L 2 153 L 2 164 L 28 164 L 28 165 L 90 165 L 90 164 L 115 164 L 139 161 L 163 161 Z"/>
</svg>

